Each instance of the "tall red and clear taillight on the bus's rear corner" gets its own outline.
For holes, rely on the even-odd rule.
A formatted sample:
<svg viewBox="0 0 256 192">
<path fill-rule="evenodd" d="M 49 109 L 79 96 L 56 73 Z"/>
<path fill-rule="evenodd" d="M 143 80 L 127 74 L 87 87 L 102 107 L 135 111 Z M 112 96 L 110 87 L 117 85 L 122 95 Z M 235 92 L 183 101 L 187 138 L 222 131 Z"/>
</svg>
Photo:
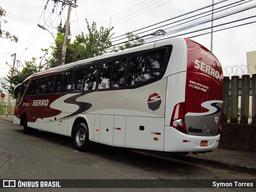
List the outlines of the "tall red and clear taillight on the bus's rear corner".
<svg viewBox="0 0 256 192">
<path fill-rule="evenodd" d="M 176 106 L 174 106 L 170 126 L 176 128 L 178 131 L 182 133 L 188 134 L 184 117 L 185 117 L 185 102 L 181 102 L 176 104 Z"/>
</svg>

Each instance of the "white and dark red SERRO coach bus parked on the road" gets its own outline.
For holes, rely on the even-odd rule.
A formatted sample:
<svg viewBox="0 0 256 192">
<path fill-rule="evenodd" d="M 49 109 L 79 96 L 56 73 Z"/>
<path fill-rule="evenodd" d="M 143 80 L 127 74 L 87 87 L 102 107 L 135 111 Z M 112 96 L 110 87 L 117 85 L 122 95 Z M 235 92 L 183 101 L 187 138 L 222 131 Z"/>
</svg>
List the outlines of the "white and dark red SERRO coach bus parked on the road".
<svg viewBox="0 0 256 192">
<path fill-rule="evenodd" d="M 40 71 L 16 86 L 14 124 L 92 144 L 210 152 L 220 141 L 223 74 L 188 38 L 168 38 Z"/>
</svg>

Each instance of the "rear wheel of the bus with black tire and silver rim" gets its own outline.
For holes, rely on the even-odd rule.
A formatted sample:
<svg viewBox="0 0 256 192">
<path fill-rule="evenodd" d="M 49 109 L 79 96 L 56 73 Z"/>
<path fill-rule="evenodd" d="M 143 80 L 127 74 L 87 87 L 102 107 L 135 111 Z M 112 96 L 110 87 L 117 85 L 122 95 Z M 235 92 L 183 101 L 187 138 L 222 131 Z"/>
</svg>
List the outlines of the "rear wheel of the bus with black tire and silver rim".
<svg viewBox="0 0 256 192">
<path fill-rule="evenodd" d="M 76 125 L 73 135 L 74 148 L 78 151 L 89 151 L 92 148 L 92 142 L 89 140 L 89 131 L 85 123 Z"/>
</svg>

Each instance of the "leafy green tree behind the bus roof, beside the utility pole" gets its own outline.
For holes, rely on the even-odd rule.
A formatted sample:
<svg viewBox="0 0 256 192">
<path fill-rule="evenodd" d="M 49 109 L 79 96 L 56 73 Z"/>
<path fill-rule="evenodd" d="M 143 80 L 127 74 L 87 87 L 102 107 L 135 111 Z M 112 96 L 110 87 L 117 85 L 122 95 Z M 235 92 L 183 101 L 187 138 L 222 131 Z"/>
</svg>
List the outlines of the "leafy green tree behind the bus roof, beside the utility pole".
<svg viewBox="0 0 256 192">
<path fill-rule="evenodd" d="M 86 19 L 86 24 L 88 34 L 84 35 L 82 32 L 76 36 L 73 43 L 71 43 L 70 38 L 67 39 L 65 64 L 102 55 L 106 53 L 106 49 L 112 45 L 110 38 L 114 33 L 110 34 L 110 32 L 114 27 L 110 29 L 101 27 L 100 31 L 98 31 L 95 22 L 93 22 L 90 27 Z M 53 50 L 51 53 L 52 57 L 46 58 L 46 63 L 43 65 L 40 64 L 39 69 L 49 69 L 60 65 L 63 38 L 64 35 L 58 32 L 55 45 L 50 47 Z M 45 52 L 44 55 L 48 54 L 48 50 L 49 49 L 42 49 L 42 51 Z"/>
</svg>

